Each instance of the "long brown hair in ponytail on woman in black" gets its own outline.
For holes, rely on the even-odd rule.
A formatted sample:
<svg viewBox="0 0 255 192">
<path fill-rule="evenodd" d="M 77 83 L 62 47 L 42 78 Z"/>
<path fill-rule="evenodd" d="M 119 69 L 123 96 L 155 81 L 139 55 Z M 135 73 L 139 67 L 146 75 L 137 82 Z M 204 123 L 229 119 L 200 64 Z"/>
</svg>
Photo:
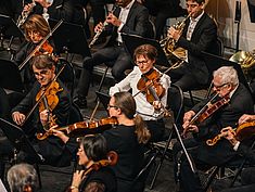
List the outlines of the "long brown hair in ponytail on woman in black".
<svg viewBox="0 0 255 192">
<path fill-rule="evenodd" d="M 140 115 L 136 115 L 137 104 L 130 92 L 116 92 L 114 95 L 114 105 L 120 108 L 122 113 L 126 115 L 127 118 L 133 119 L 136 125 L 136 133 L 139 143 L 146 143 L 151 138 L 145 123 Z"/>
</svg>

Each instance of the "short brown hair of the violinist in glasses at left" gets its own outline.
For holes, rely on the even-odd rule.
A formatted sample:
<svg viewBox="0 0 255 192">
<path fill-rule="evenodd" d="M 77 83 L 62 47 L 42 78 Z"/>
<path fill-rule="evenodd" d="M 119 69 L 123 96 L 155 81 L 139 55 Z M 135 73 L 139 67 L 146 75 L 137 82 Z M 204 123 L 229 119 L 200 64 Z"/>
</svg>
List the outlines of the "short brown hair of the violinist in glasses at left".
<svg viewBox="0 0 255 192">
<path fill-rule="evenodd" d="M 51 54 L 39 54 L 31 59 L 30 65 L 38 69 L 49 68 L 52 69 L 56 62 Z"/>
</svg>

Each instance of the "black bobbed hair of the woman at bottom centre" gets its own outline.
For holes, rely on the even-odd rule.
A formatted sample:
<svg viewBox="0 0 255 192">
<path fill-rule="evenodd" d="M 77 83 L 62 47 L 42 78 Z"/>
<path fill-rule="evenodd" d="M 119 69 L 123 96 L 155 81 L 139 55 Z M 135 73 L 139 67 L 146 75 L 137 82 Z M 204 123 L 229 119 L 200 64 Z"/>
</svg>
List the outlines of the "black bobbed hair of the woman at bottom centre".
<svg viewBox="0 0 255 192">
<path fill-rule="evenodd" d="M 106 140 L 101 133 L 85 136 L 80 144 L 82 144 L 89 159 L 98 162 L 107 158 Z"/>
</svg>

